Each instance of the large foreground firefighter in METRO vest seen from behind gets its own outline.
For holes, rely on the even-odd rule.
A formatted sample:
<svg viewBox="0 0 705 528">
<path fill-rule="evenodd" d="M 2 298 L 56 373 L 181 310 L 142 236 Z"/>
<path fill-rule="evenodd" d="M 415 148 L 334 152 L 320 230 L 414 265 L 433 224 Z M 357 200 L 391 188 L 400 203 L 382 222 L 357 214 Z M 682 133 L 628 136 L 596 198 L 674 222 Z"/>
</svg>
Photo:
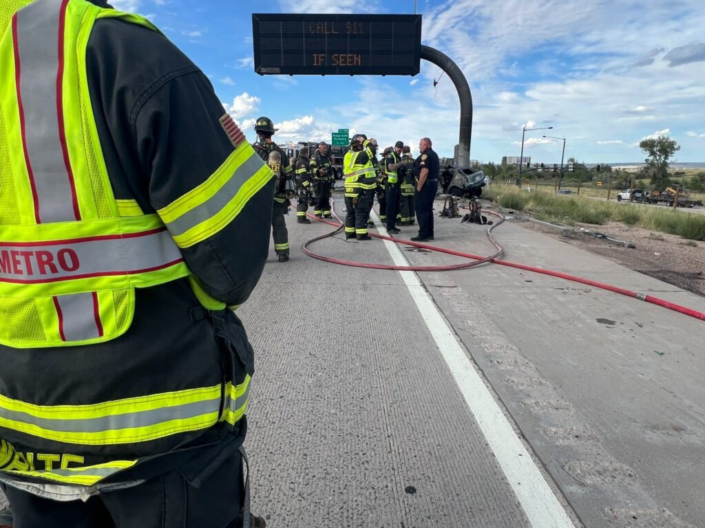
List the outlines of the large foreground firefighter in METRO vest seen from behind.
<svg viewBox="0 0 705 528">
<path fill-rule="evenodd" d="M 271 170 L 146 18 L 4 0 L 0 34 L 0 484 L 16 526 L 242 526 L 253 352 L 226 306 L 266 261 Z"/>
</svg>

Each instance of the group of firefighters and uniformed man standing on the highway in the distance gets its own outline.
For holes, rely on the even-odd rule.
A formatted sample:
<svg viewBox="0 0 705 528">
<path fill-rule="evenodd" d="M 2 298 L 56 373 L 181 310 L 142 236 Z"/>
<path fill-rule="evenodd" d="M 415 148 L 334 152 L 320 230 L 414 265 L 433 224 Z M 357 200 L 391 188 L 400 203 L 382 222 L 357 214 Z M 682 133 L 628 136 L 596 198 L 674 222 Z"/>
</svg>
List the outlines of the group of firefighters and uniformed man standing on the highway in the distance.
<svg viewBox="0 0 705 528">
<path fill-rule="evenodd" d="M 272 237 L 279 262 L 286 262 L 290 246 L 284 215 L 288 213 L 290 199 L 297 199 L 296 216 L 300 224 L 311 223 L 307 218 L 310 206 L 313 206 L 317 218 L 331 218 L 330 198 L 336 181 L 331 157 L 326 142 L 320 142 L 317 148 L 301 149 L 298 157 L 290 160 L 271 139 L 278 130 L 271 119 L 257 119 L 254 128 L 258 139 L 254 144 L 255 151 L 276 176 Z M 384 149 L 381 160 L 377 157 L 377 149 L 376 139 L 355 134 L 350 140 L 350 151 L 345 153 L 345 239 L 371 239 L 367 227 L 372 225 L 369 213 L 374 196 L 379 203 L 379 219 L 386 224 L 390 234 L 400 232 L 397 225 L 415 224 L 415 199 L 423 196 L 423 212 L 418 211 L 419 235 L 412 239 L 432 240 L 433 217 L 426 210 L 432 211 L 439 163 L 430 139 L 421 140 L 419 150 L 422 153 L 416 159 L 410 146 L 400 141 Z M 426 180 L 420 185 L 419 175 L 424 175 L 423 180 Z M 424 188 L 425 192 L 422 191 Z M 422 214 L 424 222 L 420 218 Z"/>
</svg>

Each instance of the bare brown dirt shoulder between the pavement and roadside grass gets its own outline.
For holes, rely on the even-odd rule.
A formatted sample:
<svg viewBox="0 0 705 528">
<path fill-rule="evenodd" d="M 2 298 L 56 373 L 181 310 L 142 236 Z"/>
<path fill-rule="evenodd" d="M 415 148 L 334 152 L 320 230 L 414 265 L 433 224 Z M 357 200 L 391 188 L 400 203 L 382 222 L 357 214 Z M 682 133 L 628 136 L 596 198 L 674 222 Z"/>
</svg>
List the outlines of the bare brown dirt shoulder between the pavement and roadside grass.
<svg viewBox="0 0 705 528">
<path fill-rule="evenodd" d="M 630 270 L 638 271 L 668 284 L 673 284 L 705 297 L 705 242 L 687 241 L 673 234 L 654 232 L 641 227 L 630 227 L 620 222 L 603 225 L 575 225 L 565 233 L 553 227 L 529 221 L 525 215 L 515 215 L 511 220 L 528 230 L 538 231 L 590 253 L 608 258 Z M 583 227 L 607 237 L 633 244 L 622 244 L 596 238 L 580 232 Z"/>
</svg>

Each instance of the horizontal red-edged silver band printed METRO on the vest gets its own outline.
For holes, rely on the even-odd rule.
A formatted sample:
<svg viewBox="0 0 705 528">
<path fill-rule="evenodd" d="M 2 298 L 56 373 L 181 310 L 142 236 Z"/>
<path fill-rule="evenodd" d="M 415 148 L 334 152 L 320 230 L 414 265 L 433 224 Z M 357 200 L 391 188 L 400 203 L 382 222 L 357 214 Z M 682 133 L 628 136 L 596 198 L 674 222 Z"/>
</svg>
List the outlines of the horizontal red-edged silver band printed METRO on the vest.
<svg viewBox="0 0 705 528">
<path fill-rule="evenodd" d="M 161 270 L 182 260 L 166 227 L 66 241 L 0 241 L 0 282 L 42 284 L 134 275 Z"/>
</svg>

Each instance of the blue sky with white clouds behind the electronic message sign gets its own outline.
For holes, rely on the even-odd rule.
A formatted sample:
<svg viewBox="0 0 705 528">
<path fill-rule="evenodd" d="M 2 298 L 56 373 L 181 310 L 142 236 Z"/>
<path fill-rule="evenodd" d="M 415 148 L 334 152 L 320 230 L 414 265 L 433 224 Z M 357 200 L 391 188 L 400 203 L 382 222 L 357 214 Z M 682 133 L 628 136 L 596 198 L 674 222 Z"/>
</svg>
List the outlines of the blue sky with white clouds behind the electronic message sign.
<svg viewBox="0 0 705 528">
<path fill-rule="evenodd" d="M 418 144 L 441 156 L 458 142 L 453 83 L 422 61 L 415 77 L 255 74 L 252 13 L 405 13 L 413 0 L 114 0 L 146 15 L 212 80 L 226 110 L 254 139 L 268 115 L 274 139 L 326 139 L 348 128 Z M 705 4 L 701 0 L 418 0 L 422 43 L 455 61 L 474 103 L 470 157 L 525 156 L 586 163 L 639 162 L 645 137 L 668 135 L 677 160 L 705 161 Z M 414 150 L 415 151 L 415 150 Z"/>
</svg>

